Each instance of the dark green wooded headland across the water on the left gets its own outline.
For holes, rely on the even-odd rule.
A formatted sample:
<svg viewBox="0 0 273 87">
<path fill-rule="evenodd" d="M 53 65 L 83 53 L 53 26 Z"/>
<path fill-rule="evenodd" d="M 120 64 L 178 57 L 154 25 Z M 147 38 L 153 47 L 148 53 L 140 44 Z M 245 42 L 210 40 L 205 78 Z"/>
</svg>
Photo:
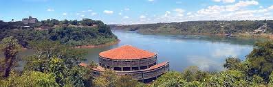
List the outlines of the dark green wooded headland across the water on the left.
<svg viewBox="0 0 273 87">
<path fill-rule="evenodd" d="M 84 18 L 82 21 L 47 19 L 34 24 L 0 22 L 0 39 L 13 36 L 19 44 L 28 47 L 30 41 L 52 40 L 69 47 L 102 45 L 118 39 L 102 21 Z"/>
</svg>

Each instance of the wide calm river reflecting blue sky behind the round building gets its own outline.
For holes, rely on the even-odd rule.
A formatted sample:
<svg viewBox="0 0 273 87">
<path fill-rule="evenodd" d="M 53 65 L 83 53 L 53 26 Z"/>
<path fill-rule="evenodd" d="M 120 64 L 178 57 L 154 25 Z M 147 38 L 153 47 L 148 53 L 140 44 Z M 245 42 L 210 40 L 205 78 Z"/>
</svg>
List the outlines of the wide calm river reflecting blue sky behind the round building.
<svg viewBox="0 0 273 87">
<path fill-rule="evenodd" d="M 170 62 L 171 71 L 183 71 L 188 66 L 198 66 L 204 71 L 221 71 L 228 57 L 245 60 L 257 40 L 220 38 L 217 36 L 182 36 L 166 34 L 139 34 L 114 30 L 121 40 L 117 45 L 87 49 L 87 61 L 98 62 L 98 53 L 122 45 L 132 45 L 157 53 L 158 62 Z M 24 54 L 32 52 L 25 51 Z"/>
</svg>

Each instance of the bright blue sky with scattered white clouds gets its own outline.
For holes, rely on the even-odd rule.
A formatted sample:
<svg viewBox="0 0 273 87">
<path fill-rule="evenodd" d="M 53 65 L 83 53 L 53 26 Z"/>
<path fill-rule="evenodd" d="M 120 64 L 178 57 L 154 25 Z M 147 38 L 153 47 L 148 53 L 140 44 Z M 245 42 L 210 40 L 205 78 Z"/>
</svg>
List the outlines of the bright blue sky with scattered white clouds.
<svg viewBox="0 0 273 87">
<path fill-rule="evenodd" d="M 0 20 L 91 18 L 107 24 L 272 20 L 273 0 L 0 0 Z"/>
</svg>

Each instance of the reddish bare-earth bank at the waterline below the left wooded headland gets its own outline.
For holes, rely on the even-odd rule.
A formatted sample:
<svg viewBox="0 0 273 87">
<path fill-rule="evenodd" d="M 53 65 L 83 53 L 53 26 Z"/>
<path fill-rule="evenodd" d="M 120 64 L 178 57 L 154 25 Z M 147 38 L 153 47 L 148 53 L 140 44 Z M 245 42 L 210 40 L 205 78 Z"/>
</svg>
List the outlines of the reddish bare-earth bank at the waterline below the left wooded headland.
<svg viewBox="0 0 273 87">
<path fill-rule="evenodd" d="M 92 49 L 92 48 L 96 48 L 96 47 L 105 47 L 105 46 L 109 46 L 109 45 L 116 45 L 118 44 L 118 42 L 120 42 L 120 40 L 116 40 L 114 42 L 109 42 L 107 44 L 103 44 L 103 45 L 82 45 L 82 46 L 77 46 L 77 47 L 73 47 L 75 49 Z"/>
</svg>

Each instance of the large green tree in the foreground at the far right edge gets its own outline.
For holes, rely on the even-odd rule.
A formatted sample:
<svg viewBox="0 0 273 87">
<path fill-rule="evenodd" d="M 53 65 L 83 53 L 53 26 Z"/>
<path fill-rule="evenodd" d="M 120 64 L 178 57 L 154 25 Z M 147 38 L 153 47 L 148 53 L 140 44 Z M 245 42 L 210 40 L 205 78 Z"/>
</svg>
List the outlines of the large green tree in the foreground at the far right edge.
<svg viewBox="0 0 273 87">
<path fill-rule="evenodd" d="M 273 42 L 257 42 L 247 58 L 251 65 L 249 72 L 260 75 L 265 81 L 268 81 L 273 71 Z"/>
</svg>

